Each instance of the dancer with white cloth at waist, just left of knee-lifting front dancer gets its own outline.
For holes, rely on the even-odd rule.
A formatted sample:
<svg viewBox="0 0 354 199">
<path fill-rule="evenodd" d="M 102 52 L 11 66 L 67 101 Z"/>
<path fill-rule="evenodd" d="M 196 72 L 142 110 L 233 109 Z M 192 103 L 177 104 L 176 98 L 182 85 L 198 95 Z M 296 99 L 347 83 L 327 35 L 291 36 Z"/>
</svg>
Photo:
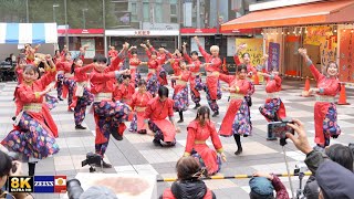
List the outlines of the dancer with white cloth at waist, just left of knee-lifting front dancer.
<svg viewBox="0 0 354 199">
<path fill-rule="evenodd" d="M 90 92 L 88 71 L 92 71 L 94 63 L 83 66 L 83 60 L 77 56 L 72 65 L 72 72 L 74 73 L 75 90 L 73 102 L 70 107 L 74 108 L 75 129 L 86 129 L 82 126 L 82 122 L 85 119 L 86 107 L 93 103 L 94 96 Z"/>
</svg>

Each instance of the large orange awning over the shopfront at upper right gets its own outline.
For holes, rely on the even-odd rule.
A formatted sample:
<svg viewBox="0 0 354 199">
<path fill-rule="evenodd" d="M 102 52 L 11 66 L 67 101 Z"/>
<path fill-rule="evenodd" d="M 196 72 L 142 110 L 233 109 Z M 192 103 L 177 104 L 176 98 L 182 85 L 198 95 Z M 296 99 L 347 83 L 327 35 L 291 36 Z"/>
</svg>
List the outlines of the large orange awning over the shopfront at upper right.
<svg viewBox="0 0 354 199">
<path fill-rule="evenodd" d="M 314 2 L 254 11 L 221 24 L 221 30 L 353 22 L 353 0 Z"/>
</svg>

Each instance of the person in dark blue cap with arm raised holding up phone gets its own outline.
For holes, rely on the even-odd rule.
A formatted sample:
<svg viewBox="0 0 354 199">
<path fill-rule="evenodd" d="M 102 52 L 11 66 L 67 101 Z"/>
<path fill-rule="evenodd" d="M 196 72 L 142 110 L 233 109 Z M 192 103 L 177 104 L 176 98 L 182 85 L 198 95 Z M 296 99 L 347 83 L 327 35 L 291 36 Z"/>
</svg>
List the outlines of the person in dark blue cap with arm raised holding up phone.
<svg viewBox="0 0 354 199">
<path fill-rule="evenodd" d="M 332 198 L 354 198 L 354 174 L 329 159 L 329 157 L 313 149 L 304 130 L 304 125 L 299 119 L 293 119 L 294 124 L 288 124 L 293 128 L 298 136 L 287 133 L 287 137 L 290 138 L 295 147 L 306 155 L 305 164 L 315 176 L 320 193 L 319 198 L 332 199 Z"/>
</svg>

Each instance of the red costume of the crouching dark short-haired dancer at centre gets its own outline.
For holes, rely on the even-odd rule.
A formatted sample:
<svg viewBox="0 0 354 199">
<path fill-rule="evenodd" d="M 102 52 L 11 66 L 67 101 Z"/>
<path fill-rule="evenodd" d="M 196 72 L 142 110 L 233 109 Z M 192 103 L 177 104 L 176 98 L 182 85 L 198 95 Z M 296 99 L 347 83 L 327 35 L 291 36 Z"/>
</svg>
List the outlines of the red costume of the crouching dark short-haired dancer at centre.
<svg viewBox="0 0 354 199">
<path fill-rule="evenodd" d="M 159 97 L 150 100 L 145 109 L 145 119 L 148 119 L 148 126 L 155 133 L 154 143 L 166 145 L 176 145 L 176 128 L 174 124 L 166 119 L 166 117 L 174 116 L 174 101 L 166 98 L 162 102 Z"/>
</svg>

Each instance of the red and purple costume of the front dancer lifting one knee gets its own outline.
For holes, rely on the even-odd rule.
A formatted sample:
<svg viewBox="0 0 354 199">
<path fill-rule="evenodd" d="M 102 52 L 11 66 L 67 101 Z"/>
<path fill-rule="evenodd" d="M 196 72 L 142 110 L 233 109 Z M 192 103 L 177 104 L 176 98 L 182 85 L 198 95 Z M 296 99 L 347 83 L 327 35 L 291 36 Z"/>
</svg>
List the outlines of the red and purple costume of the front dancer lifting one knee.
<svg viewBox="0 0 354 199">
<path fill-rule="evenodd" d="M 96 124 L 95 151 L 104 156 L 111 134 L 123 135 L 125 130 L 124 122 L 128 119 L 131 108 L 119 101 L 113 102 L 115 90 L 116 72 L 123 59 L 116 56 L 112 64 L 103 72 L 95 69 L 91 72 L 91 93 L 94 94 L 94 119 Z"/>
</svg>

